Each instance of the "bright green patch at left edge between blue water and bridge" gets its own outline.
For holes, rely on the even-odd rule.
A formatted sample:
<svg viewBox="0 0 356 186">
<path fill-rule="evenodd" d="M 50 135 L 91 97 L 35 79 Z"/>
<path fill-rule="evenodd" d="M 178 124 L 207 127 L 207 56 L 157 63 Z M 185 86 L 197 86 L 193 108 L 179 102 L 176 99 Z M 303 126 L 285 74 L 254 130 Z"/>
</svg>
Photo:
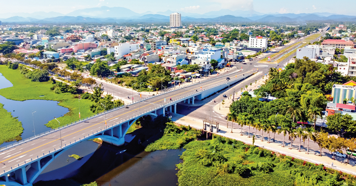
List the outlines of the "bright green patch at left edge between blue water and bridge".
<svg viewBox="0 0 356 186">
<path fill-rule="evenodd" d="M 23 132 L 22 124 L 18 119 L 13 118 L 5 108 L 4 104 L 0 103 L 0 144 L 13 140 L 21 140 Z"/>
</svg>

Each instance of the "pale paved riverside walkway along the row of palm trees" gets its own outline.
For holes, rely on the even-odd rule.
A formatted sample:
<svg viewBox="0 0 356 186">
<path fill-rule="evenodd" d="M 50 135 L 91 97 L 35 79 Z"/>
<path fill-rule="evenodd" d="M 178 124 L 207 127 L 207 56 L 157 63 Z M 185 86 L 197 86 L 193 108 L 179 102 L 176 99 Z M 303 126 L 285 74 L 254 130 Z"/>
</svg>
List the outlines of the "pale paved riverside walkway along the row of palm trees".
<svg viewBox="0 0 356 186">
<path fill-rule="evenodd" d="M 173 113 L 168 113 L 167 115 L 172 116 L 171 120 L 177 124 L 186 125 L 186 126 L 190 125 L 191 127 L 200 129 L 200 130 L 203 127 L 202 119 L 192 118 L 192 117 L 179 115 L 179 114 L 173 114 Z M 231 126 L 231 122 L 229 122 L 228 124 L 229 124 L 229 126 Z M 240 126 L 238 126 L 238 127 L 234 126 L 233 133 L 231 133 L 231 127 L 226 128 L 226 123 L 220 123 L 219 129 L 220 129 L 220 131 L 218 133 L 216 133 L 217 135 L 236 139 L 236 140 L 245 142 L 247 144 L 252 144 L 252 137 L 248 138 L 247 131 L 245 130 L 245 127 L 243 130 L 243 134 L 244 134 L 243 136 L 240 135 L 241 134 Z M 254 129 L 251 127 L 251 133 L 254 133 L 254 132 L 255 132 Z M 261 132 L 257 131 L 258 136 L 260 136 L 260 133 Z M 255 135 L 255 134 L 252 134 L 252 135 Z M 352 160 L 350 160 L 350 164 L 342 163 L 338 160 L 332 160 L 330 157 L 326 156 L 324 152 L 322 153 L 323 156 L 321 156 L 321 157 L 316 156 L 315 153 L 318 154 L 318 152 L 316 152 L 318 150 L 313 150 L 311 148 L 309 148 L 309 154 L 306 154 L 306 148 L 304 148 L 304 147 L 301 147 L 301 152 L 298 152 L 299 141 L 297 139 L 293 141 L 292 149 L 289 149 L 289 146 L 287 146 L 287 145 L 285 145 L 285 147 L 282 147 L 282 141 L 276 140 L 276 142 L 272 142 L 273 134 L 271 134 L 271 143 L 268 143 L 268 133 L 264 132 L 263 137 L 264 137 L 263 142 L 261 141 L 260 137 L 258 137 L 255 140 L 256 146 L 260 146 L 260 147 L 266 148 L 270 151 L 278 152 L 280 154 L 285 154 L 287 156 L 305 160 L 305 161 L 308 161 L 311 163 L 323 164 L 329 168 L 333 168 L 336 170 L 340 170 L 342 172 L 356 175 L 355 162 Z M 285 138 L 285 142 L 289 142 L 288 137 Z M 313 141 L 310 141 L 310 143 L 313 143 Z M 302 141 L 302 144 L 303 144 L 303 141 Z M 307 144 L 307 141 L 305 144 Z M 343 158 L 337 158 L 337 159 L 346 162 L 346 159 L 343 159 Z M 334 163 L 334 167 L 331 167 L 332 163 Z"/>
</svg>

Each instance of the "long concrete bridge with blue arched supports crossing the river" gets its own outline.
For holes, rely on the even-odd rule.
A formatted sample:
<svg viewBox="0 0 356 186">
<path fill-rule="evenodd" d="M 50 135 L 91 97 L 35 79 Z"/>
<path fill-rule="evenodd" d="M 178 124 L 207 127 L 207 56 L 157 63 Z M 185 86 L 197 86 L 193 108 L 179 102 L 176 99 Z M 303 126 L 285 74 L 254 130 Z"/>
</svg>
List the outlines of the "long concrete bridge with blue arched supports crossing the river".
<svg viewBox="0 0 356 186">
<path fill-rule="evenodd" d="M 0 185 L 32 185 L 55 158 L 83 140 L 101 138 L 105 142 L 122 145 L 125 143 L 127 130 L 137 119 L 147 115 L 164 116 L 166 111 L 176 113 L 177 103 L 188 102 L 193 105 L 194 100 L 202 100 L 252 74 L 242 75 L 241 71 L 235 70 L 214 79 L 207 79 L 186 87 L 181 86 L 176 90 L 136 101 L 130 104 L 129 108 L 122 106 L 107 110 L 3 147 L 0 150 Z M 230 80 L 226 80 L 227 77 Z"/>
</svg>

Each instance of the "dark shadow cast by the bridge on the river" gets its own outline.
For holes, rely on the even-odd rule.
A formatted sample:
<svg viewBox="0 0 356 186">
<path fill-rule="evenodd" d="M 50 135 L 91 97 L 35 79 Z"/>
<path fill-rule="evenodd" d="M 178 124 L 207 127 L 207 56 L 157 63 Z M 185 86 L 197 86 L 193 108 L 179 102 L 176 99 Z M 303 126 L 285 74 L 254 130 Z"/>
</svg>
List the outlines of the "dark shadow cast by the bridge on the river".
<svg viewBox="0 0 356 186">
<path fill-rule="evenodd" d="M 148 118 L 146 118 L 147 120 Z M 143 119 L 144 120 L 144 119 Z M 98 178 L 104 178 L 105 180 L 110 180 L 115 177 L 118 173 L 121 173 L 126 170 L 128 167 L 120 168 L 118 171 L 112 171 L 118 166 L 128 162 L 129 165 L 133 165 L 142 159 L 144 156 L 149 153 L 144 152 L 146 145 L 154 142 L 155 140 L 163 136 L 165 125 L 157 125 L 152 121 L 152 125 L 149 122 L 142 122 L 142 126 L 139 129 L 129 133 L 132 136 L 135 136 L 130 142 L 125 142 L 123 146 L 115 146 L 109 143 L 103 142 L 95 152 L 93 152 L 90 158 L 79 161 L 85 161 L 85 163 L 80 163 L 80 165 L 69 164 L 65 167 L 46 172 L 43 176 L 51 176 L 56 174 L 64 174 L 68 172 L 63 172 L 64 170 L 71 170 L 64 179 L 56 179 L 51 181 L 38 181 L 34 185 L 66 185 L 66 186 L 79 186 L 84 183 L 89 183 L 97 180 Z M 157 121 L 157 120 L 155 120 Z M 165 122 L 165 121 L 161 121 Z M 120 153 L 126 150 L 124 153 Z M 64 153 L 62 156 L 67 156 Z M 87 155 L 89 156 L 89 155 Z M 75 162 L 79 162 L 78 160 Z M 75 163 L 74 162 L 74 163 Z M 111 173 L 113 172 L 113 173 Z M 53 176 L 51 176 L 53 177 Z M 105 181 L 103 180 L 103 181 Z"/>
</svg>

